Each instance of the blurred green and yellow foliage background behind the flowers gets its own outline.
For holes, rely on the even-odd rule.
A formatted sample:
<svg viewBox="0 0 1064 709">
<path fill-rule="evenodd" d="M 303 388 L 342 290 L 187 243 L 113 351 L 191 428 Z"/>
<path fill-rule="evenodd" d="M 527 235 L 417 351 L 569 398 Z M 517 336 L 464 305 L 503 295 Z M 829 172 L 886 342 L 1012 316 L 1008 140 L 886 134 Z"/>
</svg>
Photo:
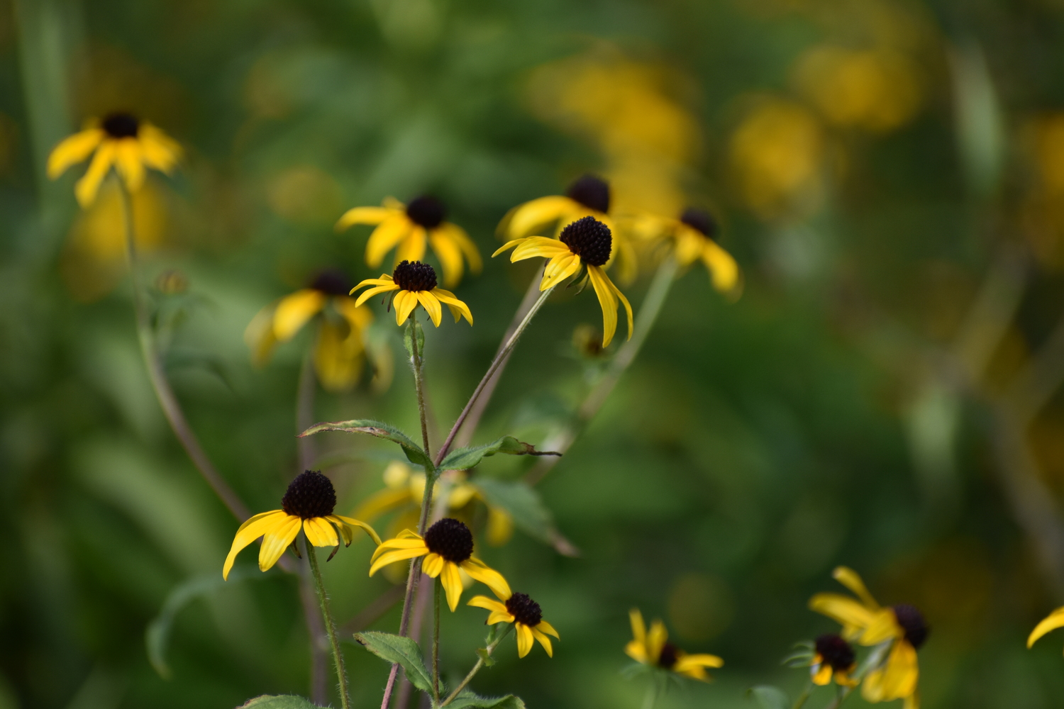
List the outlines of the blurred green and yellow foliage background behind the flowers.
<svg viewBox="0 0 1064 709">
<path fill-rule="evenodd" d="M 379 275 L 367 230 L 333 232 L 348 207 L 431 191 L 486 257 L 509 208 L 593 171 L 618 209 L 693 203 L 724 224 L 742 298 L 700 266 L 684 274 L 538 485 L 581 555 L 520 531 L 484 547 L 562 641 L 519 661 L 505 643 L 482 693 L 637 707 L 642 680 L 619 675 L 632 606 L 726 660 L 662 707 L 753 706 L 745 689 L 766 681 L 795 692 L 802 672 L 779 660 L 832 629 L 805 602 L 837 590 L 845 563 L 927 615 L 927 709 L 1060 706 L 1064 639 L 1024 642 L 1064 602 L 1062 47 L 1060 0 L 3 0 L 0 707 L 228 709 L 310 691 L 295 577 L 260 574 L 249 551 L 246 573 L 211 583 L 236 522 L 145 375 L 117 191 L 82 213 L 81 168 L 44 175 L 57 140 L 115 109 L 186 149 L 137 196 L 146 272 L 188 280 L 155 294 L 180 315 L 168 372 L 255 511 L 297 470 L 311 335 L 254 369 L 243 332 L 317 269 Z M 476 326 L 429 328 L 434 441 L 532 273 L 488 260 L 455 289 Z M 648 280 L 626 287 L 636 307 Z M 373 308 L 392 386 L 319 392 L 314 418 L 414 432 L 398 328 Z M 589 292 L 548 303 L 475 440 L 556 433 L 599 367 L 573 330 L 600 317 Z M 395 451 L 320 438 L 356 454 L 326 471 L 349 511 Z M 370 551 L 326 569 L 342 623 L 390 586 L 366 577 Z M 204 591 L 174 606 L 164 679 L 145 629 L 189 579 Z M 482 622 L 464 606 L 445 618 L 447 674 L 470 665 Z M 387 666 L 346 647 L 358 706 L 377 706 Z"/>
</svg>

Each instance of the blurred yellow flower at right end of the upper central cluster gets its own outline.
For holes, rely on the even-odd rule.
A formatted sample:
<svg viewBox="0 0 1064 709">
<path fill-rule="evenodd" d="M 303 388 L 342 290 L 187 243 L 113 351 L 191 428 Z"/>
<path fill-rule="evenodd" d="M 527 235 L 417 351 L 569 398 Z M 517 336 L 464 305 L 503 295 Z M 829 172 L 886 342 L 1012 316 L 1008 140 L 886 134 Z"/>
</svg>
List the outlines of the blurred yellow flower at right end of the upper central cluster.
<svg viewBox="0 0 1064 709">
<path fill-rule="evenodd" d="M 647 240 L 668 239 L 680 266 L 701 259 L 720 292 L 731 292 L 738 285 L 738 265 L 713 240 L 717 224 L 709 212 L 689 207 L 679 219 L 645 214 L 635 219 L 633 231 Z"/>
</svg>

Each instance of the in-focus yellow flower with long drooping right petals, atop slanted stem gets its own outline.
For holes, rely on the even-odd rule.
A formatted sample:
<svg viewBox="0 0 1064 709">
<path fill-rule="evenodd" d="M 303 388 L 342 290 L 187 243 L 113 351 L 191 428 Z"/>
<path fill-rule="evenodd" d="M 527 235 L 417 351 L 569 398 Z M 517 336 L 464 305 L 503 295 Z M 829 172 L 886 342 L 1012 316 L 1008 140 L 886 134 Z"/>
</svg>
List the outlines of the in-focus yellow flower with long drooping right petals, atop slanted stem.
<svg viewBox="0 0 1064 709">
<path fill-rule="evenodd" d="M 610 276 L 602 270 L 602 265 L 610 258 L 613 249 L 613 233 L 610 227 L 595 217 L 583 217 L 562 230 L 556 239 L 545 236 L 532 236 L 514 239 L 502 244 L 492 256 L 498 256 L 506 249 L 514 249 L 511 261 L 518 261 L 534 256 L 549 258 L 539 290 L 547 290 L 570 275 L 583 281 L 591 278 L 602 306 L 602 347 L 608 347 L 617 332 L 617 299 L 628 311 L 628 338 L 632 338 L 632 306 L 625 293 L 613 285 Z M 586 273 L 586 275 L 584 275 Z"/>
</svg>

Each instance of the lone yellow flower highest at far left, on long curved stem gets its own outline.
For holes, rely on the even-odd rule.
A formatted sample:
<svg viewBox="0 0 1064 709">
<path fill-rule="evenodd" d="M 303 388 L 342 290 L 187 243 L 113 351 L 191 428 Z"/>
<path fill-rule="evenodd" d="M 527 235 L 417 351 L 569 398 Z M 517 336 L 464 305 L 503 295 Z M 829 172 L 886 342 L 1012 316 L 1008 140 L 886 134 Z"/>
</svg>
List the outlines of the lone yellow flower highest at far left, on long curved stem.
<svg viewBox="0 0 1064 709">
<path fill-rule="evenodd" d="M 92 120 L 87 129 L 64 138 L 48 156 L 48 176 L 52 180 L 93 153 L 93 162 L 74 186 L 78 203 L 87 207 L 96 200 L 100 183 L 114 165 L 131 192 L 144 184 L 145 168 L 169 174 L 181 156 L 181 146 L 170 136 L 129 114 L 111 114 Z"/>
</svg>

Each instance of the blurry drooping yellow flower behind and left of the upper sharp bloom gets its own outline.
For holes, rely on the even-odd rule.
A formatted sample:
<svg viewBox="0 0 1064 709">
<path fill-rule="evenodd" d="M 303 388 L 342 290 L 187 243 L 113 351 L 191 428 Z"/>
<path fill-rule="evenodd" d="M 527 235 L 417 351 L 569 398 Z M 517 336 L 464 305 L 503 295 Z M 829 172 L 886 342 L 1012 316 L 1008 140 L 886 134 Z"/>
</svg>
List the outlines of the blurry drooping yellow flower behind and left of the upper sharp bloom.
<svg viewBox="0 0 1064 709">
<path fill-rule="evenodd" d="M 349 286 L 342 272 L 322 271 L 307 288 L 260 310 L 244 331 L 252 361 L 257 366 L 266 364 L 278 342 L 290 340 L 331 304 L 339 318 L 321 320 L 314 345 L 314 369 L 326 389 L 343 391 L 353 386 L 362 374 L 365 334 L 373 314 L 348 297 Z"/>
</svg>

